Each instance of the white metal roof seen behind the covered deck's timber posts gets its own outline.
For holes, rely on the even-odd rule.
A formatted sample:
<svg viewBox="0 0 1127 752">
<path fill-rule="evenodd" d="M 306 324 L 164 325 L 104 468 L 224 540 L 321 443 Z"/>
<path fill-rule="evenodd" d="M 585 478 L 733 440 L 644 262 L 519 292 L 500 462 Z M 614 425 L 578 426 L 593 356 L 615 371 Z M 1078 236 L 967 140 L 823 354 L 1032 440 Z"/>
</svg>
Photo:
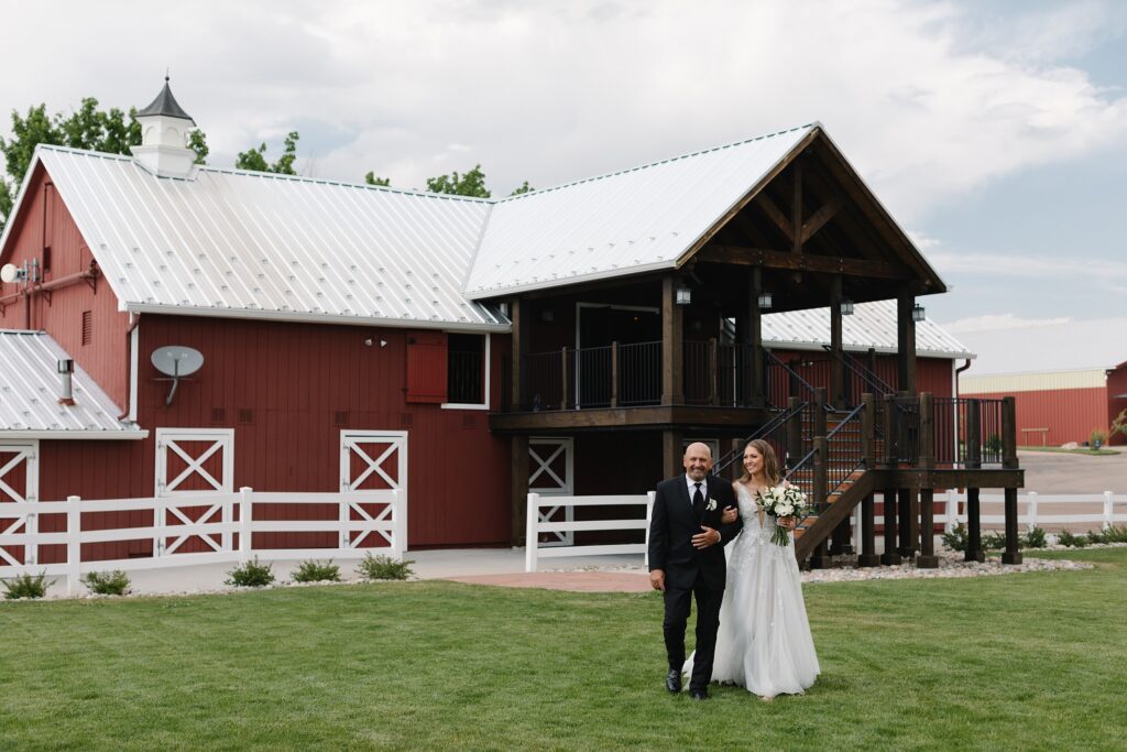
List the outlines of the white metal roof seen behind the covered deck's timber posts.
<svg viewBox="0 0 1127 752">
<path fill-rule="evenodd" d="M 916 355 L 923 357 L 975 357 L 958 339 L 931 319 L 916 321 Z M 829 344 L 829 308 L 767 313 L 763 317 L 763 343 L 772 348 L 822 350 Z M 896 301 L 855 303 L 852 316 L 842 317 L 842 346 L 846 351 L 896 352 Z"/>
</svg>

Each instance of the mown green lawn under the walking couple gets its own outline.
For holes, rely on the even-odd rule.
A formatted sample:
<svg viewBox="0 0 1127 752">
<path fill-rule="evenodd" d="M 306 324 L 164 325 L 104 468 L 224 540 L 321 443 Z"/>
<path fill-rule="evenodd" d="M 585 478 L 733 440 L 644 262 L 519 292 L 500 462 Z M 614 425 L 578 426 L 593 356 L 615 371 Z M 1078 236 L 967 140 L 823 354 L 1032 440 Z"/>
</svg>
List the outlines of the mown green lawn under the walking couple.
<svg viewBox="0 0 1127 752">
<path fill-rule="evenodd" d="M 668 696 L 656 593 L 0 603 L 0 750 L 1121 749 L 1127 549 L 1045 556 L 1098 568 L 807 586 L 823 674 L 770 705 Z"/>
</svg>

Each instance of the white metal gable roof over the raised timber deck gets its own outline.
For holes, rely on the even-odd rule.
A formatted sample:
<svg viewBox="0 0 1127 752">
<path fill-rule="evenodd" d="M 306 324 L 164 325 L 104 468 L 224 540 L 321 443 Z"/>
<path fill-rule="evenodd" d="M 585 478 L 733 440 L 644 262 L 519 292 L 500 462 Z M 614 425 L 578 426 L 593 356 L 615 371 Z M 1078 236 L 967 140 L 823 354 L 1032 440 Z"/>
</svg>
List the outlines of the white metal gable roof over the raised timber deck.
<svg viewBox="0 0 1127 752">
<path fill-rule="evenodd" d="M 473 299 L 673 268 L 817 124 L 494 204 Z"/>
</svg>

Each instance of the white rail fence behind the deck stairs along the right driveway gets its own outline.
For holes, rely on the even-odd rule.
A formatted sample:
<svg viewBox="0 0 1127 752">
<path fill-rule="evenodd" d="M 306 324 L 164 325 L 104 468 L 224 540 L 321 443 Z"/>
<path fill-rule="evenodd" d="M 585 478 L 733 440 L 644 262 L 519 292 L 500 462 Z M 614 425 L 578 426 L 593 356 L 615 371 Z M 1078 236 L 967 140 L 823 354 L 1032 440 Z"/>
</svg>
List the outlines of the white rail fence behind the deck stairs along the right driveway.
<svg viewBox="0 0 1127 752">
<path fill-rule="evenodd" d="M 950 532 L 961 522 L 967 522 L 967 494 L 949 490 L 935 494 L 937 503 L 944 503 L 943 513 L 937 513 L 935 524 L 942 524 L 943 530 Z M 1005 503 L 1003 494 L 979 494 L 978 522 L 982 525 L 1005 524 L 1005 514 L 1002 506 Z M 1086 505 L 1089 510 L 1098 506 L 1099 512 L 1068 512 L 1067 514 L 1042 514 L 1041 504 L 1066 504 Z M 997 510 L 996 513 L 987 514 L 988 510 Z M 1117 508 L 1119 511 L 1117 511 Z M 1045 528 L 1046 525 L 1067 525 L 1089 523 L 1107 530 L 1113 524 L 1127 522 L 1127 494 L 1115 494 L 1106 490 L 1102 494 L 1067 494 L 1046 495 L 1031 490 L 1018 494 L 1018 524 L 1024 524 L 1026 530 L 1033 528 Z M 884 522 L 881 515 L 876 516 L 876 523 Z M 861 505 L 853 510 L 853 546 L 857 550 L 861 548 Z"/>
</svg>

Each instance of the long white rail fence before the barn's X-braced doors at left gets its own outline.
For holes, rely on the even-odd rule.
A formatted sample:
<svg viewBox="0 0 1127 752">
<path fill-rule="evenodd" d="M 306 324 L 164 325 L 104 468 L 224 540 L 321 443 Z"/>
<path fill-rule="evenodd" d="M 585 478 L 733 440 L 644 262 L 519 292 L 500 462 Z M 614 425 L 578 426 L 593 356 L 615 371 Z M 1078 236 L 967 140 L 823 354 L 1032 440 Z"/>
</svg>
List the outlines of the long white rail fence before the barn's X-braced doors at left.
<svg viewBox="0 0 1127 752">
<path fill-rule="evenodd" d="M 276 504 L 308 504 L 338 507 L 336 520 L 256 520 L 255 506 Z M 380 505 L 380 511 L 365 510 L 365 505 Z M 201 514 L 185 510 L 202 507 Z M 236 510 L 238 508 L 238 515 Z M 106 512 L 152 512 L 153 524 L 136 528 L 85 530 L 83 515 Z M 46 514 L 65 514 L 63 532 L 38 532 L 37 517 Z M 238 516 L 238 519 L 236 519 Z M 354 519 L 356 517 L 356 519 Z M 362 558 L 370 550 L 396 558 L 407 550 L 407 496 L 399 489 L 349 493 L 272 493 L 240 488 L 234 494 L 176 494 L 151 498 L 115 498 L 88 501 L 71 496 L 65 502 L 6 503 L 0 505 L 0 577 L 21 574 L 64 576 L 66 592 L 77 592 L 79 580 L 89 572 L 122 569 L 154 569 L 247 561 L 260 559 L 307 558 Z M 23 528 L 23 531 L 15 532 Z M 264 532 L 334 532 L 336 548 L 255 549 L 254 533 Z M 238 533 L 238 546 L 234 536 Z M 83 561 L 82 543 L 152 540 L 152 555 L 148 558 L 128 558 Z M 179 549 L 189 539 L 203 541 L 211 550 L 183 552 Z M 66 560 L 57 564 L 37 564 L 38 546 L 65 545 Z M 6 549 L 24 548 L 24 561 Z"/>
</svg>

